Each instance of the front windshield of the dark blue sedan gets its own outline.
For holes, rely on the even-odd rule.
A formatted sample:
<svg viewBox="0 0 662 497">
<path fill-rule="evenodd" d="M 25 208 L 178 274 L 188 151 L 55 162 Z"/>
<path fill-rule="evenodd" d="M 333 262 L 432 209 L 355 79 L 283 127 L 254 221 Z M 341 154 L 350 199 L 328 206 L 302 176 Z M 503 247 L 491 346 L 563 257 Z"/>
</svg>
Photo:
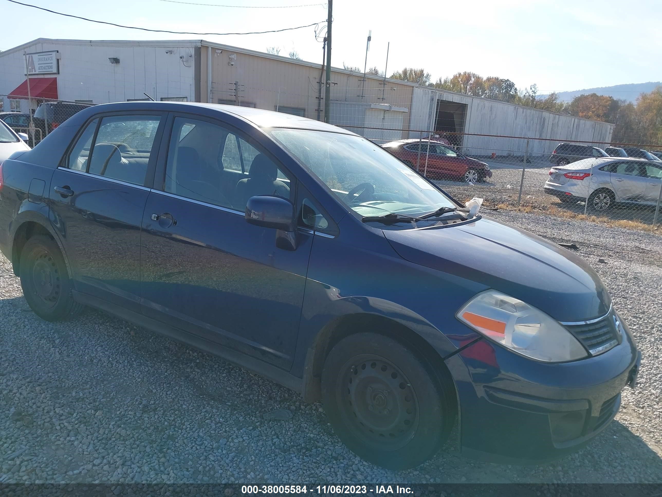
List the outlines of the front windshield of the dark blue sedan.
<svg viewBox="0 0 662 497">
<path fill-rule="evenodd" d="M 379 145 L 356 135 L 307 129 L 267 131 L 361 216 L 418 215 L 455 205 Z"/>
</svg>

